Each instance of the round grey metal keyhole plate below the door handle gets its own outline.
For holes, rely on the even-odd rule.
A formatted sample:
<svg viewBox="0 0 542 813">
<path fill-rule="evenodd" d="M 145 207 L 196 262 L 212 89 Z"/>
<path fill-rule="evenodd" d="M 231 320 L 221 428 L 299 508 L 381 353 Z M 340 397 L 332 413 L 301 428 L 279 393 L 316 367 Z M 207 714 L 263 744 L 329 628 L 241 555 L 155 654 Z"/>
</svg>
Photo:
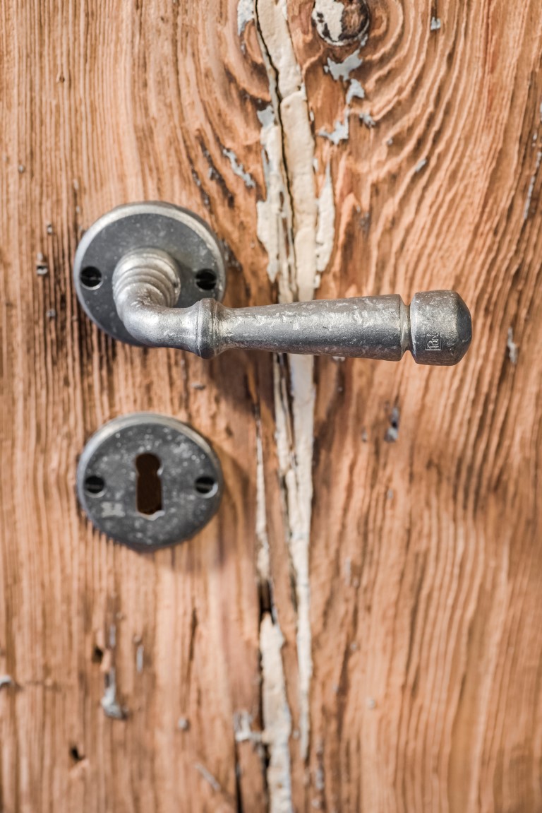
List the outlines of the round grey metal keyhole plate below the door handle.
<svg viewBox="0 0 542 813">
<path fill-rule="evenodd" d="M 161 507 L 138 511 L 137 458 L 158 458 Z M 77 494 L 89 520 L 111 539 L 156 550 L 193 537 L 222 497 L 219 459 L 179 420 L 150 412 L 122 415 L 90 438 L 77 467 Z"/>
</svg>

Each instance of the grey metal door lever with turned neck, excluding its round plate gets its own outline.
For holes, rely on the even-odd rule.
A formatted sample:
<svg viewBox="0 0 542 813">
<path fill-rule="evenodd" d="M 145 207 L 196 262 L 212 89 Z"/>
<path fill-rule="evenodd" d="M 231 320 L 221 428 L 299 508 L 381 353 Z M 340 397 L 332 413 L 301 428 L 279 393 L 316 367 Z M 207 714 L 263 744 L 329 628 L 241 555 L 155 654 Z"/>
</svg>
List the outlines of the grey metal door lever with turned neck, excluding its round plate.
<svg viewBox="0 0 542 813">
<path fill-rule="evenodd" d="M 120 322 L 130 341 L 203 358 L 237 347 L 399 361 L 410 350 L 418 364 L 432 365 L 456 364 L 470 346 L 470 312 L 454 291 L 416 293 L 410 307 L 395 294 L 236 309 L 189 302 L 176 258 L 146 232 L 147 246 L 115 253 L 108 290 L 117 337 Z"/>
</svg>

